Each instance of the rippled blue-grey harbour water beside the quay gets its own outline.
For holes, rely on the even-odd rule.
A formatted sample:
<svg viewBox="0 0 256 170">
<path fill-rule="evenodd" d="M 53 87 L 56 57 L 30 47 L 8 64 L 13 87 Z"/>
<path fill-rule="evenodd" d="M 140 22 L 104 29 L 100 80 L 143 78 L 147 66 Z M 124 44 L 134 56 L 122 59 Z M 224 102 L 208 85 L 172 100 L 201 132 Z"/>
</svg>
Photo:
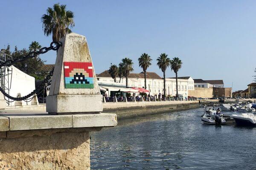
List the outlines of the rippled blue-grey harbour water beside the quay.
<svg viewBox="0 0 256 170">
<path fill-rule="evenodd" d="M 91 136 L 92 170 L 256 170 L 256 128 L 204 125 L 204 108 L 119 121 Z"/>
</svg>

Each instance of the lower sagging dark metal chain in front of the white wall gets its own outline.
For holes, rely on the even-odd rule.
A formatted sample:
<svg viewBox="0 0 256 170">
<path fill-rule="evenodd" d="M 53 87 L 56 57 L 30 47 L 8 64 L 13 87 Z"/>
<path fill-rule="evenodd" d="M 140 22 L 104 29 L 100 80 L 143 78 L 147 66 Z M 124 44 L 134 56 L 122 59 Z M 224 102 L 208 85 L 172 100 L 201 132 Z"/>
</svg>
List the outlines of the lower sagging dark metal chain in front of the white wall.
<svg viewBox="0 0 256 170">
<path fill-rule="evenodd" d="M 52 69 L 52 71 L 50 71 L 50 73 L 47 75 L 47 77 L 44 79 L 44 81 L 40 85 L 38 85 L 38 88 L 33 90 L 30 94 L 28 94 L 26 96 L 23 96 L 23 97 L 13 97 L 13 96 L 10 96 L 1 87 L 0 87 L 0 91 L 3 93 L 4 96 L 8 97 L 9 99 L 12 99 L 12 100 L 15 100 L 15 101 L 25 100 L 25 99 L 33 96 L 34 94 L 39 94 L 41 92 L 41 89 L 44 88 L 45 83 L 48 83 L 49 80 L 51 79 L 51 77 L 53 75 L 53 71 L 54 71 L 54 68 Z"/>
</svg>

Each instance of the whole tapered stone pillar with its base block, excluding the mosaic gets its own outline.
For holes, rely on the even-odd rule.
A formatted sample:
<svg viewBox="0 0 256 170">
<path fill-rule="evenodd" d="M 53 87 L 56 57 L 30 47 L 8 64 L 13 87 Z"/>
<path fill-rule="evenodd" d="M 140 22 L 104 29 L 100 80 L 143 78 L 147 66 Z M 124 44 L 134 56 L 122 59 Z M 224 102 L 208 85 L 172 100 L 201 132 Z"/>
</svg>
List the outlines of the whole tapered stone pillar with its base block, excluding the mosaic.
<svg viewBox="0 0 256 170">
<path fill-rule="evenodd" d="M 62 47 L 58 49 L 51 88 L 47 96 L 47 112 L 57 114 L 102 111 L 102 95 L 93 65 L 93 88 L 65 88 L 64 62 L 92 63 L 86 38 L 70 33 L 60 41 Z"/>
</svg>

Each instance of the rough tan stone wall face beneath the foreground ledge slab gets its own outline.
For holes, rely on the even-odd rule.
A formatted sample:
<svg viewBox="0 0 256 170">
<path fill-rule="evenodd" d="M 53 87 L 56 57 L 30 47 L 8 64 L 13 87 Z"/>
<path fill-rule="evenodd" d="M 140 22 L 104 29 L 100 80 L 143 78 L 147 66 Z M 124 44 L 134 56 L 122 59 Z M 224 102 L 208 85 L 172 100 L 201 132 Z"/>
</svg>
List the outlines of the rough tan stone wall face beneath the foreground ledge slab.
<svg viewBox="0 0 256 170">
<path fill-rule="evenodd" d="M 89 132 L 1 139 L 0 164 L 13 170 L 90 170 Z"/>
</svg>

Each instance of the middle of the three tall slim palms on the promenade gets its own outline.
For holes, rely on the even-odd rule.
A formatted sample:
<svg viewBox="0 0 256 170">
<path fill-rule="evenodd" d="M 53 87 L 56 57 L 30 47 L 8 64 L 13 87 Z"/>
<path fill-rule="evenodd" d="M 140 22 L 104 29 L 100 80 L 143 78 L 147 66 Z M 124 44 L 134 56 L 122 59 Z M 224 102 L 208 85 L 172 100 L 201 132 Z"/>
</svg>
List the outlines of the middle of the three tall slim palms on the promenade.
<svg viewBox="0 0 256 170">
<path fill-rule="evenodd" d="M 167 57 L 168 55 L 162 53 L 160 57 L 157 58 L 157 65 L 163 71 L 163 97 L 166 96 L 166 77 L 165 72 L 166 68 L 170 66 L 171 59 Z"/>
</svg>

